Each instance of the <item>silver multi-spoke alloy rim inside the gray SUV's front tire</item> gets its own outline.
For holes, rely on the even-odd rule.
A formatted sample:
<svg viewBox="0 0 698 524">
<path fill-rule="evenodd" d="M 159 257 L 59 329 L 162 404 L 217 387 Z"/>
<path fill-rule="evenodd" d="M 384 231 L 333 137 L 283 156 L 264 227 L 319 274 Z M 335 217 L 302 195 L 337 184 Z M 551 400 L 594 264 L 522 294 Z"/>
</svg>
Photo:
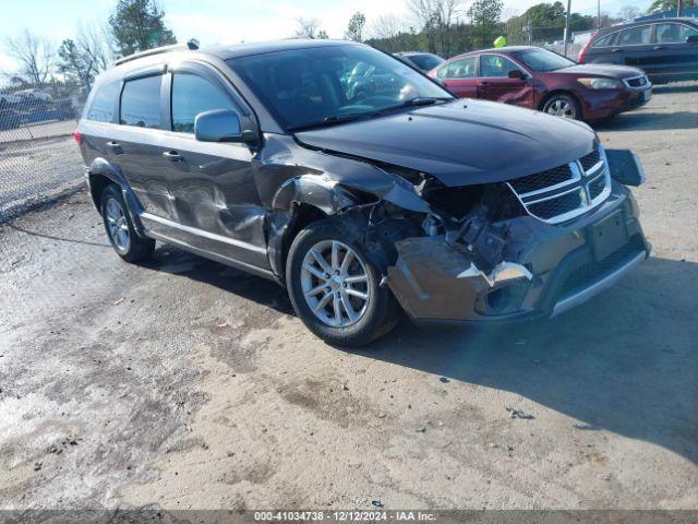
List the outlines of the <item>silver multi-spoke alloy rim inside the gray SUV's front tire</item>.
<svg viewBox="0 0 698 524">
<path fill-rule="evenodd" d="M 313 314 L 333 327 L 356 324 L 372 298 L 364 262 L 338 240 L 320 241 L 308 251 L 301 265 L 301 289 Z"/>
</svg>

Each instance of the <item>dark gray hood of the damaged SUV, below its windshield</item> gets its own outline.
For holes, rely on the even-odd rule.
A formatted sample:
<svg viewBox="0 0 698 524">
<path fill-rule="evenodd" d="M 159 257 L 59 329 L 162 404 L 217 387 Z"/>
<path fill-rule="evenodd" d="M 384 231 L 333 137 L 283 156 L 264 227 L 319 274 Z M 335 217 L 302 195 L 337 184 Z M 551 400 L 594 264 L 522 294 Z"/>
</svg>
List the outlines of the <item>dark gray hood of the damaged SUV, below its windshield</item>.
<svg viewBox="0 0 698 524">
<path fill-rule="evenodd" d="M 484 100 L 460 99 L 299 132 L 301 144 L 394 164 L 446 186 L 500 182 L 552 169 L 593 150 L 587 124 Z"/>
</svg>

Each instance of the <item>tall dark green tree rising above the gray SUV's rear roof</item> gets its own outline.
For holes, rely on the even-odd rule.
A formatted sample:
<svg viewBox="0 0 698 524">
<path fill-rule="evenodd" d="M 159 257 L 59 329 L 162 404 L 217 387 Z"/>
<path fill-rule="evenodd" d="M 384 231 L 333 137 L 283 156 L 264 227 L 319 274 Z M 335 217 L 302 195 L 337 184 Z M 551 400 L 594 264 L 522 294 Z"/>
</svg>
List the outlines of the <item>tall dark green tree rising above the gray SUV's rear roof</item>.
<svg viewBox="0 0 698 524">
<path fill-rule="evenodd" d="M 164 17 L 165 12 L 155 0 L 119 0 L 109 25 L 121 55 L 177 44 Z"/>
</svg>

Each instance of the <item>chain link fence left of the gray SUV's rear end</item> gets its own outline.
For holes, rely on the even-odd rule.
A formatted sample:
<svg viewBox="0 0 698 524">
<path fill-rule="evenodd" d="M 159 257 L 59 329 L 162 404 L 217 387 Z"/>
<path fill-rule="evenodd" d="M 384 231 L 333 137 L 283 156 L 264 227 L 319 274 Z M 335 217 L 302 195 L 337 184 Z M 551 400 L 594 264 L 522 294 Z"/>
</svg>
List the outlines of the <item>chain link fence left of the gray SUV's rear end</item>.
<svg viewBox="0 0 698 524">
<path fill-rule="evenodd" d="M 86 97 L 62 83 L 0 88 L 0 223 L 79 186 L 71 134 Z"/>
</svg>

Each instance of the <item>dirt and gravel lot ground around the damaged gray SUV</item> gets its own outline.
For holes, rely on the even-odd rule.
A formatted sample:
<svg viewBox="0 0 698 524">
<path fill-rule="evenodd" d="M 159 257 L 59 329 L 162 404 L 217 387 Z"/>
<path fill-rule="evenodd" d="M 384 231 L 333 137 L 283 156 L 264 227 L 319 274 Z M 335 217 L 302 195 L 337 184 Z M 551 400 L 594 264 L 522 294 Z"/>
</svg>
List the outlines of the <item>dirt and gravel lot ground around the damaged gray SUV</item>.
<svg viewBox="0 0 698 524">
<path fill-rule="evenodd" d="M 0 226 L 0 508 L 698 509 L 698 84 L 597 128 L 653 254 L 506 331 L 344 352 L 270 282 L 122 263 L 84 193 Z"/>
</svg>

